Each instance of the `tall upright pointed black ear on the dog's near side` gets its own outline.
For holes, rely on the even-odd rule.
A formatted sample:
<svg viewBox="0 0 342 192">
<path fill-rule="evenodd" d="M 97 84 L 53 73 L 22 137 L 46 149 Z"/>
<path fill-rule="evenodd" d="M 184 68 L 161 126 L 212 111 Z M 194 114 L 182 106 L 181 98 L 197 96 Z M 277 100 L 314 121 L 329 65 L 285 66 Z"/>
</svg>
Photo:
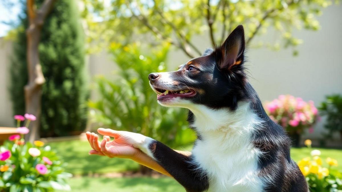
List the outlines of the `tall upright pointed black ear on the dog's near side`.
<svg viewBox="0 0 342 192">
<path fill-rule="evenodd" d="M 237 26 L 223 44 L 215 50 L 220 69 L 232 69 L 244 61 L 245 32 L 242 25 Z"/>
</svg>

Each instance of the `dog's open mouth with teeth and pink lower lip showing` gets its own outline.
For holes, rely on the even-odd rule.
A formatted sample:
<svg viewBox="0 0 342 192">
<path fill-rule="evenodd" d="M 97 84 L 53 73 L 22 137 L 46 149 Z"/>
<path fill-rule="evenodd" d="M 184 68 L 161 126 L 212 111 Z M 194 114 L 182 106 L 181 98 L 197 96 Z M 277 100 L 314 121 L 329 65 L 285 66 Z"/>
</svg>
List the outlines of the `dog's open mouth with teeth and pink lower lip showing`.
<svg viewBox="0 0 342 192">
<path fill-rule="evenodd" d="M 167 98 L 174 98 L 174 97 L 192 97 L 196 95 L 196 92 L 194 90 L 163 90 L 160 88 L 153 87 L 153 91 L 157 93 L 157 99 L 162 100 L 162 99 L 167 99 Z"/>
</svg>

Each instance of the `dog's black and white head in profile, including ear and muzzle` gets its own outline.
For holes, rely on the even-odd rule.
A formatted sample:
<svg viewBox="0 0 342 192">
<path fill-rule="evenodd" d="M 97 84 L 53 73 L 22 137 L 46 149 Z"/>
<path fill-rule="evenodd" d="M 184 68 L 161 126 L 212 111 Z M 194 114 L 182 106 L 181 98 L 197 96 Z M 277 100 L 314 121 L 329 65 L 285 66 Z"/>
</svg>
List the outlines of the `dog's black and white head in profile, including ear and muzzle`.
<svg viewBox="0 0 342 192">
<path fill-rule="evenodd" d="M 177 71 L 149 74 L 158 103 L 184 108 L 200 104 L 235 109 L 237 101 L 244 97 L 244 51 L 244 28 L 240 25 L 221 46 L 189 60 Z"/>
</svg>

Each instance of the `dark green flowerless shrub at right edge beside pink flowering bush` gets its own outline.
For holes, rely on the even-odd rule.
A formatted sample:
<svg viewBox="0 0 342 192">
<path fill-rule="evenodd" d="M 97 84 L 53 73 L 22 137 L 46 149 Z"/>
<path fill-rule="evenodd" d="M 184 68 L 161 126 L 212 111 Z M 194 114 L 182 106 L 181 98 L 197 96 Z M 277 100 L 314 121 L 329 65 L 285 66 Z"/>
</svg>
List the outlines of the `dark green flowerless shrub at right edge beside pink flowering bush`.
<svg viewBox="0 0 342 192">
<path fill-rule="evenodd" d="M 340 132 L 342 136 L 342 96 L 326 96 L 326 101 L 321 103 L 319 110 L 322 116 L 327 116 L 324 127 L 329 131 L 328 137 L 331 138 L 335 132 Z"/>
</svg>

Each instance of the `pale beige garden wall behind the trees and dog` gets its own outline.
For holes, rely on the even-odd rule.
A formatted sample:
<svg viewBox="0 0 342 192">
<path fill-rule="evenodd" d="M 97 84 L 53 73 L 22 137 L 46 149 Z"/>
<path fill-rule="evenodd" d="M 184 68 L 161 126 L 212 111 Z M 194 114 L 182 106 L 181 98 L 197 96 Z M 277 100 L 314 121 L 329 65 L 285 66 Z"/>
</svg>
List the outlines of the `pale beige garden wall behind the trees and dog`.
<svg viewBox="0 0 342 192">
<path fill-rule="evenodd" d="M 268 49 L 249 49 L 248 68 L 252 78 L 250 82 L 263 101 L 272 100 L 280 94 L 291 94 L 304 100 L 313 100 L 316 105 L 325 95 L 342 94 L 342 6 L 330 6 L 319 17 L 322 29 L 313 31 L 295 31 L 294 35 L 304 40 L 298 46 L 299 56 L 293 57 L 292 50 L 282 49 L 275 52 Z M 272 39 L 272 32 L 259 39 Z M 254 42 L 258 42 L 256 38 Z M 206 35 L 194 37 L 193 41 L 201 50 L 210 46 Z M 8 85 L 9 46 L 0 47 L 0 126 L 12 124 L 11 105 L 6 92 Z M 188 57 L 179 50 L 169 53 L 168 63 L 171 69 L 186 62 Z M 96 75 L 114 76 L 115 64 L 106 52 L 89 56 L 89 74 L 91 80 Z M 94 94 L 92 94 L 94 96 Z M 314 134 L 305 138 L 318 138 L 324 130 L 322 122 L 315 127 Z"/>
</svg>

